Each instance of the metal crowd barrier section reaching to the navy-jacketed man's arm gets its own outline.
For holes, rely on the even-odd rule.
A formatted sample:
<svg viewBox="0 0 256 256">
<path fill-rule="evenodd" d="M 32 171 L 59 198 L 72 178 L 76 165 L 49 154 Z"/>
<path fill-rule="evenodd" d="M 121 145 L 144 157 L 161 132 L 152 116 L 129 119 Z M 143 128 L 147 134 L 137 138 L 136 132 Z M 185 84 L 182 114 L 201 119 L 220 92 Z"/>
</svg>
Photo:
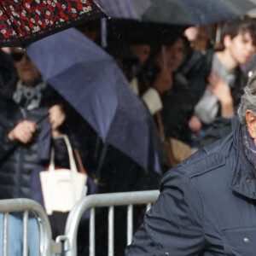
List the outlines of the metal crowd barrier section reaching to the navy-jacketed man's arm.
<svg viewBox="0 0 256 256">
<path fill-rule="evenodd" d="M 69 213 L 64 236 L 56 241 L 64 242 L 66 256 L 77 256 L 77 233 L 83 213 L 90 209 L 90 256 L 95 256 L 95 208 L 108 207 L 108 256 L 113 256 L 113 207 L 127 206 L 127 245 L 133 236 L 133 205 L 147 205 L 147 211 L 156 201 L 159 190 L 89 195 L 79 201 Z"/>
</svg>

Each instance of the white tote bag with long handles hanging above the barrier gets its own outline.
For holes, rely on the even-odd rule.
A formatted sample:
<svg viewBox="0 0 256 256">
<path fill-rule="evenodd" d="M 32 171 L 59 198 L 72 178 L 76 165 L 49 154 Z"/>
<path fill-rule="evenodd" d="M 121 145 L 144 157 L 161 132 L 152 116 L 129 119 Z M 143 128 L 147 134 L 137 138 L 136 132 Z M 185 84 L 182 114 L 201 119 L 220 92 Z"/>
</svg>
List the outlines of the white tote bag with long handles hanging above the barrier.
<svg viewBox="0 0 256 256">
<path fill-rule="evenodd" d="M 67 144 L 70 170 L 55 170 L 55 151 L 54 148 L 51 148 L 49 171 L 40 172 L 39 174 L 44 196 L 44 207 L 48 215 L 51 215 L 53 211 L 69 212 L 84 195 L 84 186 L 87 183 L 87 175 L 78 172 L 67 135 L 64 135 L 63 138 Z"/>
</svg>

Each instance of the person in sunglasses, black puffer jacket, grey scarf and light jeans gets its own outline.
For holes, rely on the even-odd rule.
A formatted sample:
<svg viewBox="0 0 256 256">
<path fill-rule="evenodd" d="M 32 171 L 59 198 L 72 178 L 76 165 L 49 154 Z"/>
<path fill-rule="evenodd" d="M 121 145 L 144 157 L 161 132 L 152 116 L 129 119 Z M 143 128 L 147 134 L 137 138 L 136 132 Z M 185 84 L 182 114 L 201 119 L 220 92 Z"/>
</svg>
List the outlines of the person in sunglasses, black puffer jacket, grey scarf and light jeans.
<svg viewBox="0 0 256 256">
<path fill-rule="evenodd" d="M 51 123 L 56 159 L 65 161 L 67 155 L 61 152 L 66 148 L 65 143 L 58 139 L 66 120 L 61 96 L 42 79 L 23 49 L 12 49 L 11 56 L 17 74 L 5 84 L 0 96 L 0 199 L 30 197 L 30 174 L 33 168 L 42 165 L 38 136 L 45 122 Z M 3 214 L 0 228 L 3 230 Z M 0 236 L 3 236 L 2 230 Z M 32 217 L 28 235 L 29 255 L 37 256 L 38 224 Z M 9 214 L 9 255 L 22 254 L 22 236 L 21 213 Z"/>
</svg>

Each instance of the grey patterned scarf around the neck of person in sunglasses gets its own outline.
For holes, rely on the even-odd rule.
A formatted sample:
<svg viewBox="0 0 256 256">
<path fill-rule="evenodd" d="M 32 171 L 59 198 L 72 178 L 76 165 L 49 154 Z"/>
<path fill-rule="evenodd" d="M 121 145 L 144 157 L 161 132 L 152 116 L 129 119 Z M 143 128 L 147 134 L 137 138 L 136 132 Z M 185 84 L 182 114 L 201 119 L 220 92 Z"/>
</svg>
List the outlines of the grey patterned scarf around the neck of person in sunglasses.
<svg viewBox="0 0 256 256">
<path fill-rule="evenodd" d="M 28 111 L 38 108 L 42 99 L 42 90 L 47 86 L 43 80 L 34 86 L 26 86 L 21 80 L 18 81 L 16 90 L 13 94 L 13 100 L 20 104 L 22 100 L 26 101 L 26 109 Z"/>
</svg>

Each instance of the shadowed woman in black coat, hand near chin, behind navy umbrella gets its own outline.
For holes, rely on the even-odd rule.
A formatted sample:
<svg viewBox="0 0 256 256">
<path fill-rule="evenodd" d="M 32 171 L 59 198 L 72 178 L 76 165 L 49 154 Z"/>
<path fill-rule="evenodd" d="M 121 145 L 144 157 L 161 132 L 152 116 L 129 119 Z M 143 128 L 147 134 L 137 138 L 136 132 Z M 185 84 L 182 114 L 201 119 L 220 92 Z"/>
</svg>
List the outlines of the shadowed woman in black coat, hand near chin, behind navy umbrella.
<svg viewBox="0 0 256 256">
<path fill-rule="evenodd" d="M 147 70 L 149 84 L 161 96 L 163 108 L 160 113 L 166 137 L 174 137 L 187 144 L 190 143 L 188 122 L 193 114 L 195 97 L 179 67 L 188 52 L 187 39 L 177 36 L 165 48 L 156 46 L 152 49 Z"/>
</svg>

